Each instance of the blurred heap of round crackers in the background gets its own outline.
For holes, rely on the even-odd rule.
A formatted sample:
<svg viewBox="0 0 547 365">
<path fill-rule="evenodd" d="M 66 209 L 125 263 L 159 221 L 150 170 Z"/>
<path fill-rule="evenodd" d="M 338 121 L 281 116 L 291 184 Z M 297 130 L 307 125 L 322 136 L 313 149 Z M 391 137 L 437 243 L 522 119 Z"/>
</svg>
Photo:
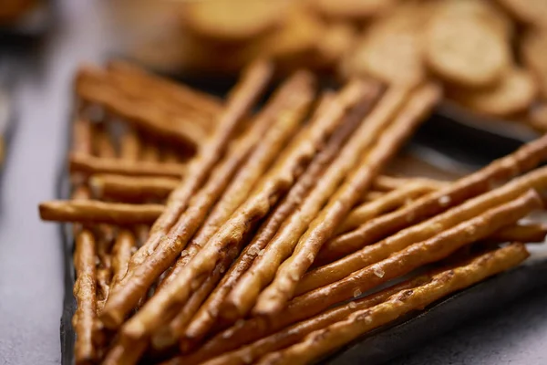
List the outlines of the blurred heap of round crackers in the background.
<svg viewBox="0 0 547 365">
<path fill-rule="evenodd" d="M 390 84 L 437 79 L 447 102 L 519 120 L 547 97 L 547 3 L 513 0 L 208 0 L 112 6 L 118 50 L 180 76 L 232 76 L 257 57 L 278 73 Z M 160 25 L 160 26 L 158 26 Z"/>
</svg>

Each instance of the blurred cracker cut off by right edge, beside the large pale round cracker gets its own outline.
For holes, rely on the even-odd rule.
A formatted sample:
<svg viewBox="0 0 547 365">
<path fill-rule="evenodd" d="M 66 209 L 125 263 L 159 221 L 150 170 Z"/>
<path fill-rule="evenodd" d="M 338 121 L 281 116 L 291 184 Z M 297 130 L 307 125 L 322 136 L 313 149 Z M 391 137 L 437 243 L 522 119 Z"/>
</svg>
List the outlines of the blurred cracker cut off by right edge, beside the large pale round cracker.
<svg viewBox="0 0 547 365">
<path fill-rule="evenodd" d="M 522 36 L 521 59 L 538 79 L 543 98 L 547 98 L 547 30 L 530 30 Z"/>
</svg>

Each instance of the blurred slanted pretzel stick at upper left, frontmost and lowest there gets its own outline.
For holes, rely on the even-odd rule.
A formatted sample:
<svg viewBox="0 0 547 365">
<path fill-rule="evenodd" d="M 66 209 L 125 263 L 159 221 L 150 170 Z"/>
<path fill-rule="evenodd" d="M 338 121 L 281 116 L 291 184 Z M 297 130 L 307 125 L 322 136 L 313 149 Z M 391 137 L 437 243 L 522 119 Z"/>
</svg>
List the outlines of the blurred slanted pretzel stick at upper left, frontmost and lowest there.
<svg viewBox="0 0 547 365">
<path fill-rule="evenodd" d="M 122 94 L 108 80 L 108 74 L 96 68 L 80 68 L 76 78 L 77 95 L 90 103 L 114 112 L 124 120 L 160 137 L 198 147 L 207 132 L 189 116 L 172 113 L 158 105 L 139 102 Z"/>
</svg>

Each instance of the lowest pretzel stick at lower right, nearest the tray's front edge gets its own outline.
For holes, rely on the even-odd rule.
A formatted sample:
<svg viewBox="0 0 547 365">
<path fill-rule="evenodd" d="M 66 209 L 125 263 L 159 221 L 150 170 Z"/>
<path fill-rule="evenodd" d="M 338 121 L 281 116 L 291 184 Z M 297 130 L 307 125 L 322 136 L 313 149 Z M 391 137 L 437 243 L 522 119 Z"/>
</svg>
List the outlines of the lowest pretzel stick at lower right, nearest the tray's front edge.
<svg viewBox="0 0 547 365">
<path fill-rule="evenodd" d="M 261 365 L 306 364 L 356 339 L 373 328 L 387 324 L 411 310 L 427 307 L 450 293 L 470 287 L 489 276 L 519 265 L 529 254 L 522 244 L 513 244 L 480 255 L 469 264 L 441 272 L 420 287 L 401 290 L 373 308 L 357 310 L 346 319 L 316 330 L 293 346 L 273 352 L 258 361 Z"/>
</svg>

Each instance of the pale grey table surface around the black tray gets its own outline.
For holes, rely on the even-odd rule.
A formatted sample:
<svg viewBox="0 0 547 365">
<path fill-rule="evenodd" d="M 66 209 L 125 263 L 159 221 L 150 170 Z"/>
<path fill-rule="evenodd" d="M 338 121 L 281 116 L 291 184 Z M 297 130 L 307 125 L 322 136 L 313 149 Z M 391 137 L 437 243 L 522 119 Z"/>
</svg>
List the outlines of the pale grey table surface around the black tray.
<svg viewBox="0 0 547 365">
<path fill-rule="evenodd" d="M 36 206 L 56 197 L 74 69 L 105 56 L 108 27 L 97 2 L 59 4 L 56 31 L 20 75 L 17 126 L 0 176 L 0 364 L 60 362 L 60 236 L 39 221 Z M 522 297 L 393 364 L 546 364 L 546 306 L 547 292 Z"/>
</svg>

